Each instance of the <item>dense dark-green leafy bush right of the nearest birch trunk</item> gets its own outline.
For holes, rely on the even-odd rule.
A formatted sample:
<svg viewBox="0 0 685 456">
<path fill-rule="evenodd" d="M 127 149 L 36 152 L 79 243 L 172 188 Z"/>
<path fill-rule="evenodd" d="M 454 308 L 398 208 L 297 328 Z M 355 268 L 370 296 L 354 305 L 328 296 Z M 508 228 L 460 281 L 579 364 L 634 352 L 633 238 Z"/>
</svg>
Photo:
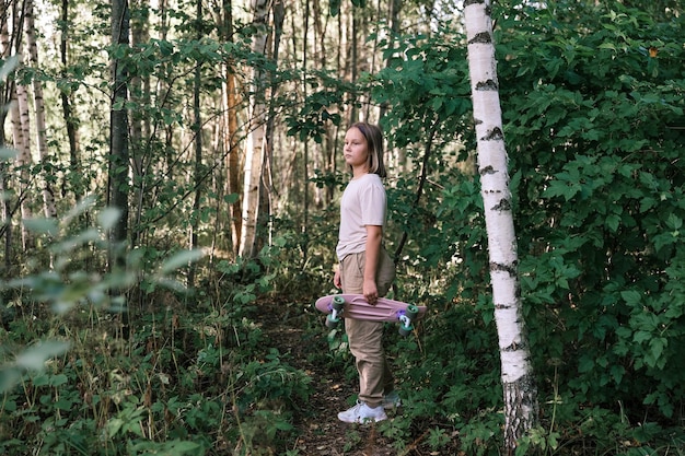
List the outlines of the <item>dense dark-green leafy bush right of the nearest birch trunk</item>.
<svg viewBox="0 0 685 456">
<path fill-rule="evenodd" d="M 573 353 L 579 398 L 629 410 L 641 398 L 672 417 L 685 336 L 681 32 L 618 4 L 587 11 L 581 34 L 552 13 L 525 9 L 502 27 L 533 39 L 500 38 L 533 351 L 542 372 Z"/>
</svg>

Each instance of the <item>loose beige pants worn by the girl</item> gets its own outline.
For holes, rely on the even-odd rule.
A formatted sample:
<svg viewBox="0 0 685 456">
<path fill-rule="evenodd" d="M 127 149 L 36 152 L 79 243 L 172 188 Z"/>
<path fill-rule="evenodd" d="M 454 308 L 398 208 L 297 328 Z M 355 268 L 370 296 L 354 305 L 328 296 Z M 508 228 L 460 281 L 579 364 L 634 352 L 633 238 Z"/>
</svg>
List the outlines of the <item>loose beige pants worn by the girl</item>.
<svg viewBox="0 0 685 456">
<path fill-rule="evenodd" d="M 342 293 L 361 294 L 363 285 L 364 253 L 348 255 L 340 261 Z M 379 296 L 384 296 L 395 279 L 395 265 L 385 249 L 376 270 Z M 383 395 L 393 390 L 394 378 L 383 350 L 383 323 L 346 318 L 345 331 L 359 372 L 359 400 L 378 407 Z"/>
</svg>

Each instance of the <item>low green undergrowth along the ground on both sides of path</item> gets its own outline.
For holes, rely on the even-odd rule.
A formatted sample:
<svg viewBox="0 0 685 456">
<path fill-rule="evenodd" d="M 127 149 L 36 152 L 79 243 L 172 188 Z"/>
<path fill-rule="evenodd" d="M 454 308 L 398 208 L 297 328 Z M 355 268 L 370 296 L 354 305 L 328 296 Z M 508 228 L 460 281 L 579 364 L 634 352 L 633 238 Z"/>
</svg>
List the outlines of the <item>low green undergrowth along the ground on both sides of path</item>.
<svg viewBox="0 0 685 456">
<path fill-rule="evenodd" d="M 28 363 L 36 369 L 22 371 L 14 386 L 3 383 L 0 453 L 299 455 L 295 419 L 311 412 L 316 373 L 294 367 L 297 360 L 263 334 L 258 303 L 275 300 L 282 283 L 289 303 L 318 292 L 312 281 L 301 296 L 293 292 L 293 277 L 278 259 L 278 250 L 265 249 L 256 261 L 211 265 L 213 273 L 193 294 L 139 288 L 147 305 L 128 309 L 128 331 L 123 315 L 106 305 L 77 300 L 56 314 L 30 290 L 4 290 L 12 315 L 0 328 L 3 382 L 31 358 L 27 350 L 40 349 L 38 341 L 70 348 Z M 324 269 L 314 281 L 326 283 Z M 63 291 L 79 284 L 65 283 Z M 429 312 L 407 338 L 388 324 L 386 347 L 403 407 L 378 432 L 398 455 L 499 455 L 502 391 L 487 300 L 446 301 L 406 279 L 398 285 L 397 294 Z M 304 315 L 300 305 L 277 305 Z M 325 331 L 307 318 L 298 319 L 304 341 Z M 356 383 L 342 331 L 328 332 L 327 342 L 327 351 L 309 353 L 311 364 L 341 370 Z M 537 365 L 539 424 L 521 439 L 516 455 L 685 454 L 681 418 L 652 417 L 643 408 L 636 420 L 634 404 L 581 400 L 558 367 L 558 360 Z M 351 453 L 363 445 L 359 439 L 350 428 L 340 449 Z"/>
</svg>

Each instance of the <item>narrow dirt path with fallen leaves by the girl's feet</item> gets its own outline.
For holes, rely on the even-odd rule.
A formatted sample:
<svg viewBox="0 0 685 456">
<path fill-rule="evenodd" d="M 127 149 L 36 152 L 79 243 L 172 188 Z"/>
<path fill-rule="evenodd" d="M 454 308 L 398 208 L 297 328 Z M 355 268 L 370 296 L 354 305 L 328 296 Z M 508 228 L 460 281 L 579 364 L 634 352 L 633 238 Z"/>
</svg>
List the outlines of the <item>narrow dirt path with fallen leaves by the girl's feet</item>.
<svg viewBox="0 0 685 456">
<path fill-rule="evenodd" d="M 337 413 L 350 407 L 349 399 L 357 394 L 356 381 L 345 378 L 345 370 L 330 363 L 317 362 L 325 359 L 328 351 L 327 330 L 324 316 L 312 315 L 313 311 L 295 311 L 282 315 L 283 305 L 272 303 L 272 308 L 260 307 L 260 323 L 269 343 L 281 354 L 288 355 L 288 363 L 305 372 L 311 378 L 312 394 L 309 402 L 295 413 L 297 440 L 291 451 L 304 456 L 390 456 L 397 455 L 397 448 L 378 431 L 378 424 L 348 424 L 338 420 Z M 312 330 L 312 319 L 321 323 L 321 332 Z M 307 329 L 309 328 L 309 329 Z M 316 350 L 321 356 L 312 355 Z M 351 363 L 352 360 L 349 360 Z M 388 410 L 388 419 L 395 413 Z M 427 453 L 404 452 L 406 455 Z"/>
</svg>

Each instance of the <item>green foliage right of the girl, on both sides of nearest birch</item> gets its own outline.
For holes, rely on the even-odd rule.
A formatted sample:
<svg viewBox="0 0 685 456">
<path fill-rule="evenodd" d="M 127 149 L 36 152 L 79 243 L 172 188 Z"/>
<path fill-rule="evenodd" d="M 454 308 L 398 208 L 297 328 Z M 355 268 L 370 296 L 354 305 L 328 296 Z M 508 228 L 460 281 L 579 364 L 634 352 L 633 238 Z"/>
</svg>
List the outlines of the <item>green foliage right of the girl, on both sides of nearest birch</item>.
<svg viewBox="0 0 685 456">
<path fill-rule="evenodd" d="M 541 426 L 519 454 L 669 453 L 685 372 L 682 21 L 510 3 L 495 7 L 498 69 L 541 393 Z M 443 32 L 382 42 L 390 66 L 363 80 L 415 166 L 387 190 L 395 293 L 431 309 L 418 341 L 391 338 L 405 407 L 381 429 L 398 449 L 425 439 L 440 451 L 449 435 L 490 455 L 502 416 L 485 223 L 462 166 L 474 147 L 463 37 Z M 341 362 L 346 347 L 329 341 Z M 417 424 L 429 417 L 440 424 Z"/>
</svg>

